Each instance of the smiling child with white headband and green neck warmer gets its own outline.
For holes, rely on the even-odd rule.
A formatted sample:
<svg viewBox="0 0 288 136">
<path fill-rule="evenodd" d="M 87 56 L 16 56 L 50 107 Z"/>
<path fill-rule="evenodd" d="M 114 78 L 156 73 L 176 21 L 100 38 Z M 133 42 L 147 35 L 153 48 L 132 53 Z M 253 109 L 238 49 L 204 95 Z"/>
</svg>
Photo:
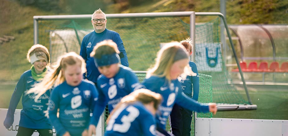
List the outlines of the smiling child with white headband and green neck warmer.
<svg viewBox="0 0 288 136">
<path fill-rule="evenodd" d="M 22 106 L 17 136 L 31 136 L 35 130 L 42 136 L 52 136 L 52 125 L 43 111 L 47 110 L 50 91 L 39 96 L 34 101 L 35 94 L 26 95 L 27 90 L 40 82 L 47 73 L 50 54 L 48 49 L 40 44 L 33 45 L 27 53 L 27 59 L 32 64 L 31 69 L 25 71 L 12 94 L 4 126 L 9 129 L 14 122 L 14 112 L 22 97 Z"/>
</svg>

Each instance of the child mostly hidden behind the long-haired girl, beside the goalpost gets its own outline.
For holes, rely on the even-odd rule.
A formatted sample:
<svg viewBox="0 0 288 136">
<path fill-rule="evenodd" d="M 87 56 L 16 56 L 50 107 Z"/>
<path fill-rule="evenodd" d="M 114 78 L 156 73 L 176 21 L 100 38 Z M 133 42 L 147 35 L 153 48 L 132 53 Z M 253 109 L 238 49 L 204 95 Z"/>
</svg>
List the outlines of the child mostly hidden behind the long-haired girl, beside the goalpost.
<svg viewBox="0 0 288 136">
<path fill-rule="evenodd" d="M 189 55 L 192 54 L 192 41 L 190 38 L 180 41 L 185 47 Z M 196 76 L 187 76 L 185 79 L 180 80 L 181 90 L 187 97 L 193 97 L 195 101 L 198 101 L 199 96 L 199 74 L 197 66 L 194 62 L 189 61 L 190 69 L 196 73 Z M 177 103 L 174 104 L 170 113 L 170 126 L 172 134 L 176 136 L 190 136 L 192 111 L 180 107 Z"/>
</svg>

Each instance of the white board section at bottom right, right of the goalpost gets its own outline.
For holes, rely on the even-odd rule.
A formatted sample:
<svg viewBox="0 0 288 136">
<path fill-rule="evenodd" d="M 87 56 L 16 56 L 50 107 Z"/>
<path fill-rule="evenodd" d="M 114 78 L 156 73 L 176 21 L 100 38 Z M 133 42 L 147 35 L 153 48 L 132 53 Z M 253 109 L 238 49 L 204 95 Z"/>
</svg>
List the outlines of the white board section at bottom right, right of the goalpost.
<svg viewBox="0 0 288 136">
<path fill-rule="evenodd" d="M 288 136 L 288 120 L 196 118 L 195 136 Z M 209 123 L 208 123 L 209 121 Z"/>
</svg>

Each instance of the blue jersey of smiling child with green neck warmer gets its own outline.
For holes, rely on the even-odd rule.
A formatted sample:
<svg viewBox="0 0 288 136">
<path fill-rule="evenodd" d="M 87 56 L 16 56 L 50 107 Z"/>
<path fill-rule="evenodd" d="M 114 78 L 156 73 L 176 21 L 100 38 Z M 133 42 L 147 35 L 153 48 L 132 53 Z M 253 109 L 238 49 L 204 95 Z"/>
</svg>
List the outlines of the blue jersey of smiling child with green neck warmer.
<svg viewBox="0 0 288 136">
<path fill-rule="evenodd" d="M 21 110 L 19 126 L 31 129 L 52 129 L 52 125 L 44 113 L 47 110 L 50 90 L 41 95 L 36 102 L 34 100 L 36 94 L 26 94 L 36 83 L 39 82 L 33 79 L 31 70 L 27 70 L 21 75 L 10 100 L 4 121 L 5 126 L 10 127 L 13 124 L 15 109 L 22 97 L 23 109 Z"/>
</svg>

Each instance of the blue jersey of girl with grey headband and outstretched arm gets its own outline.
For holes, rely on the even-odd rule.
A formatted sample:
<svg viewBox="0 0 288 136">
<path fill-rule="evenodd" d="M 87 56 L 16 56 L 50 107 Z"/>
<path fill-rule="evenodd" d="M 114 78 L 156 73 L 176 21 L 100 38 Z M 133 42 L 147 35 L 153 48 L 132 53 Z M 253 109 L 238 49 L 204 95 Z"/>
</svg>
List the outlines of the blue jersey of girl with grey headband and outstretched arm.
<svg viewBox="0 0 288 136">
<path fill-rule="evenodd" d="M 170 115 L 175 102 L 190 111 L 209 111 L 207 105 L 199 104 L 182 92 L 178 79 L 168 81 L 165 77 L 151 76 L 150 78 L 145 79 L 137 88 L 147 88 L 162 95 L 163 102 L 158 108 L 160 114 L 157 114 L 156 116 L 157 125 L 162 129 L 165 129 L 167 118 Z"/>
</svg>

